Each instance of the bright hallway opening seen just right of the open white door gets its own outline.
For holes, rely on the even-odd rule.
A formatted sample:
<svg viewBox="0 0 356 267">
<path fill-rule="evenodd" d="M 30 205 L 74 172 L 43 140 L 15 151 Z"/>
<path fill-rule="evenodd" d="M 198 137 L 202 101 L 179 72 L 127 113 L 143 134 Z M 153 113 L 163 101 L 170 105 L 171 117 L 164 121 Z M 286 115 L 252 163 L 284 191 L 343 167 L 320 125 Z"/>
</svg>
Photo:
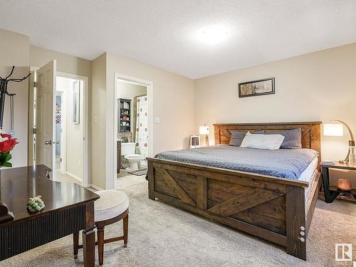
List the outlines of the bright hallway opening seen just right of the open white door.
<svg viewBox="0 0 356 267">
<path fill-rule="evenodd" d="M 83 86 L 84 81 L 56 78 L 56 181 L 83 185 Z"/>
</svg>

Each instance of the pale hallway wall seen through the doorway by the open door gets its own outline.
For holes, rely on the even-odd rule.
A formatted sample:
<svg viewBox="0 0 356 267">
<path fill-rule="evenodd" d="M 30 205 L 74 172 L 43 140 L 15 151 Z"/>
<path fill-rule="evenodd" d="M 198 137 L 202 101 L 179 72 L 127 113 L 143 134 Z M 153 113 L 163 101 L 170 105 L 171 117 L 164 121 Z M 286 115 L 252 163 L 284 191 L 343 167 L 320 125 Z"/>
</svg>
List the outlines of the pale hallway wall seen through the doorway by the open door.
<svg viewBox="0 0 356 267">
<path fill-rule="evenodd" d="M 57 77 L 57 91 L 64 92 L 66 107 L 62 110 L 66 113 L 66 172 L 75 178 L 83 181 L 83 81 L 80 85 L 80 120 L 79 124 L 73 124 L 73 83 L 70 78 Z M 63 127 L 63 125 L 62 125 Z"/>
</svg>

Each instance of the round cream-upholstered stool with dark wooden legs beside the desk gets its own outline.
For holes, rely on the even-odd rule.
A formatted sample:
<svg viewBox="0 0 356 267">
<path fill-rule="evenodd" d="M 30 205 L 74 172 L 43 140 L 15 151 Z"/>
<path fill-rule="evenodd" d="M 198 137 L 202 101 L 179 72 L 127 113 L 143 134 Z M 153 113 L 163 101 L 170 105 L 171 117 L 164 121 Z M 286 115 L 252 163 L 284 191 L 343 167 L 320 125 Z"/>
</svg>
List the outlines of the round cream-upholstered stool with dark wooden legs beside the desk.
<svg viewBox="0 0 356 267">
<path fill-rule="evenodd" d="M 95 194 L 100 196 L 100 199 L 94 202 L 95 226 L 98 230 L 98 254 L 99 265 L 103 265 L 104 244 L 114 241 L 123 240 L 124 246 L 127 246 L 127 232 L 129 220 L 129 199 L 127 195 L 118 190 L 102 190 Z M 117 236 L 111 239 L 104 239 L 104 228 L 106 225 L 113 224 L 122 219 L 123 236 Z M 73 235 L 74 257 L 78 256 L 78 248 L 83 248 L 79 244 L 79 233 Z"/>
</svg>

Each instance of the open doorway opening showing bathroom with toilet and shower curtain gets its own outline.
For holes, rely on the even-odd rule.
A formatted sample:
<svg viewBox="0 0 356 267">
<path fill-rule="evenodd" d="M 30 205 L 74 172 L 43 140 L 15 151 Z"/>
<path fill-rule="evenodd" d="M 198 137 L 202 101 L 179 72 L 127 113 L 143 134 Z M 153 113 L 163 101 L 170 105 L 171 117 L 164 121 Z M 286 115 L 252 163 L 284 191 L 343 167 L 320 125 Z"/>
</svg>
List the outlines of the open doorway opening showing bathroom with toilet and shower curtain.
<svg viewBox="0 0 356 267">
<path fill-rule="evenodd" d="M 150 147 L 148 85 L 117 79 L 116 188 L 145 181 Z"/>
</svg>

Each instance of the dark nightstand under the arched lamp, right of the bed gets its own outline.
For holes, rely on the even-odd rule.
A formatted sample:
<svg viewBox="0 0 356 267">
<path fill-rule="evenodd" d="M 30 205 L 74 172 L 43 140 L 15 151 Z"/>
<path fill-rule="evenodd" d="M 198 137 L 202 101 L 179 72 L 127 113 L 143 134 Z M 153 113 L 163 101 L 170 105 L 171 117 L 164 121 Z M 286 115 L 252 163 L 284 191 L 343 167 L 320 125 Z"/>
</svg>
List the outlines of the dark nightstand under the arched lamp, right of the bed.
<svg viewBox="0 0 356 267">
<path fill-rule="evenodd" d="M 348 164 L 342 164 L 340 162 L 334 162 L 335 164 L 320 164 L 321 174 L 323 174 L 323 188 L 325 195 L 325 202 L 331 203 L 333 202 L 340 193 L 351 193 L 353 197 L 356 199 L 356 189 L 351 189 L 351 191 L 342 191 L 337 187 L 330 186 L 329 179 L 329 169 L 347 169 L 356 171 L 355 166 L 350 166 Z"/>
</svg>

